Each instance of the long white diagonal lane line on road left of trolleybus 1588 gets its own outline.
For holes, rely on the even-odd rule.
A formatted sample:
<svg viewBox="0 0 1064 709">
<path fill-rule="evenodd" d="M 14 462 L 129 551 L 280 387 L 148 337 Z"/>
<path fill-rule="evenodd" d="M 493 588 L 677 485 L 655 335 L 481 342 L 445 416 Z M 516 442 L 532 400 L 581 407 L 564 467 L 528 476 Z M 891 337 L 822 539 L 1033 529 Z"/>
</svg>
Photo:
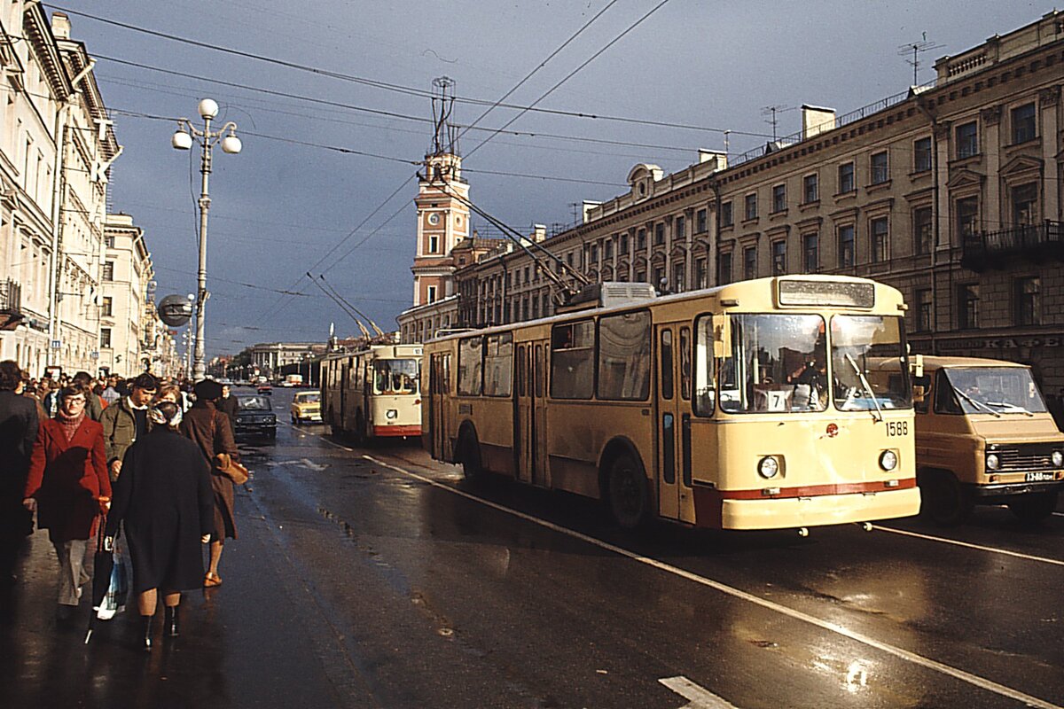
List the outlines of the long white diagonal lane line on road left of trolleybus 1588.
<svg viewBox="0 0 1064 709">
<path fill-rule="evenodd" d="M 887 655 L 893 655 L 894 657 L 897 657 L 907 662 L 912 662 L 913 664 L 920 665 L 925 669 L 938 672 L 949 677 L 953 677 L 954 679 L 958 679 L 962 682 L 966 682 L 974 687 L 978 687 L 979 689 L 985 690 L 987 692 L 999 694 L 1015 702 L 1026 703 L 1028 706 L 1036 707 L 1037 709 L 1064 709 L 1064 707 L 1060 705 L 1050 704 L 1045 699 L 1041 699 L 1036 696 L 1026 694 L 1024 692 L 1020 692 L 1019 690 L 1012 689 L 1011 687 L 998 683 L 992 679 L 980 677 L 979 675 L 971 674 L 970 672 L 965 672 L 964 670 L 960 670 L 958 668 L 945 664 L 944 662 L 938 662 L 937 660 L 932 660 L 929 657 L 924 657 L 922 655 L 918 655 L 902 647 L 897 647 L 890 643 L 876 640 L 870 636 L 864 635 L 863 632 L 858 632 L 857 630 L 851 630 L 843 625 L 838 625 L 837 623 L 825 621 L 822 619 L 816 618 L 815 615 L 810 615 L 809 613 L 802 612 L 800 610 L 788 608 L 787 606 L 783 606 L 772 601 L 762 598 L 761 596 L 753 595 L 752 593 L 748 593 L 737 588 L 728 586 L 727 584 L 721 584 L 720 581 L 713 580 L 712 578 L 699 576 L 694 572 L 681 569 L 679 567 L 675 567 L 670 563 L 665 563 L 664 561 L 659 561 L 658 559 L 652 559 L 648 556 L 643 556 L 642 554 L 630 552 L 627 548 L 617 546 L 615 544 L 611 544 L 610 542 L 604 542 L 601 539 L 596 539 L 595 537 L 591 537 L 581 531 L 569 529 L 568 527 L 563 527 L 561 525 L 554 524 L 553 522 L 548 522 L 547 520 L 541 520 L 537 517 L 520 512 L 516 509 L 511 509 L 498 503 L 494 503 L 489 500 L 484 500 L 483 497 L 478 497 L 477 495 L 470 494 L 465 490 L 459 490 L 458 488 L 453 488 L 438 480 L 434 480 L 431 477 L 419 475 L 418 473 L 405 470 L 403 468 L 400 468 L 399 466 L 393 466 L 392 463 L 380 460 L 379 458 L 375 458 L 371 455 L 363 454 L 362 457 L 365 460 L 369 460 L 370 462 L 375 462 L 378 466 L 381 466 L 382 468 L 387 468 L 388 470 L 394 470 L 403 475 L 409 475 L 410 477 L 413 477 L 416 480 L 419 480 L 427 485 L 431 485 L 432 487 L 435 488 L 439 488 L 440 490 L 446 490 L 447 492 L 456 494 L 461 497 L 465 497 L 467 500 L 479 503 L 486 507 L 491 507 L 492 509 L 495 509 L 497 511 L 510 514 L 512 517 L 516 517 L 518 519 L 525 520 L 526 522 L 531 522 L 532 524 L 536 524 L 552 531 L 566 535 L 573 539 L 578 539 L 594 546 L 598 546 L 599 548 L 617 554 L 618 556 L 624 556 L 633 561 L 637 561 L 648 567 L 652 567 L 654 569 L 658 569 L 659 571 L 664 571 L 675 576 L 685 578 L 689 581 L 694 581 L 695 584 L 698 584 L 700 586 L 705 586 L 708 588 L 714 589 L 726 595 L 730 595 L 734 598 L 746 601 L 747 603 L 760 606 L 762 608 L 765 608 L 766 610 L 780 613 L 781 615 L 786 615 L 787 618 L 800 621 L 802 623 L 807 623 L 809 625 L 813 625 L 829 632 L 834 632 L 836 635 L 843 636 L 844 638 L 849 638 L 854 642 L 867 645 L 868 647 L 872 647 L 880 652 L 886 653 Z"/>
</svg>

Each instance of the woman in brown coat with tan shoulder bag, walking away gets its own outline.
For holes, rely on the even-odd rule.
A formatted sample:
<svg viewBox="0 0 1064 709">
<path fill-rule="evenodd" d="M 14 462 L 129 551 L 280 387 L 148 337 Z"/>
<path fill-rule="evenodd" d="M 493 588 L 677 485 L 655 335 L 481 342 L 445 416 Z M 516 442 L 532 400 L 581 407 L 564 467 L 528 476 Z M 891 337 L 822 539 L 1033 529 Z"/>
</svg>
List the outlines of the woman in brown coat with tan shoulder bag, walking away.
<svg viewBox="0 0 1064 709">
<path fill-rule="evenodd" d="M 211 379 L 196 383 L 196 403 L 185 413 L 181 422 L 181 433 L 199 445 L 203 459 L 210 465 L 214 456 L 227 453 L 234 460 L 239 459 L 233 432 L 229 427 L 229 417 L 217 410 L 214 400 L 221 396 L 221 385 Z M 236 539 L 236 516 L 233 512 L 233 482 L 211 466 L 211 487 L 214 489 L 214 529 L 211 533 L 211 565 L 203 576 L 203 586 L 213 588 L 221 585 L 218 562 L 226 538 Z"/>
</svg>

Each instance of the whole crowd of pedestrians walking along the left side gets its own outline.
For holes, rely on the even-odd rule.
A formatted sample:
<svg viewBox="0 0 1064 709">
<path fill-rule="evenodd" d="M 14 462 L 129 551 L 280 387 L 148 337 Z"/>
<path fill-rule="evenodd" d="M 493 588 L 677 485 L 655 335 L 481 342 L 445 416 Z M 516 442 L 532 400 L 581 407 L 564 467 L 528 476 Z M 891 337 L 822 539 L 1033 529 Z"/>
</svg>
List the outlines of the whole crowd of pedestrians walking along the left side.
<svg viewBox="0 0 1064 709">
<path fill-rule="evenodd" d="M 145 649 L 160 601 L 164 635 L 178 636 L 181 592 L 220 586 L 222 545 L 236 538 L 231 403 L 210 379 L 34 379 L 0 361 L 0 591 L 17 584 L 35 516 L 59 560 L 59 623 L 74 617 L 94 546 L 131 561 Z"/>
</svg>

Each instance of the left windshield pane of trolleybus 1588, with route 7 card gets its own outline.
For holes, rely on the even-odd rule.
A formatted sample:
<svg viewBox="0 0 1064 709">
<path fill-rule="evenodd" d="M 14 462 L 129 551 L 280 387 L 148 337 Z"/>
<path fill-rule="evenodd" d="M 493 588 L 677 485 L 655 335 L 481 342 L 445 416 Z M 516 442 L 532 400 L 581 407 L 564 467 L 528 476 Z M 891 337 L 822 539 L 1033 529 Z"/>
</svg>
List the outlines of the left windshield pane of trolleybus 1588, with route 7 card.
<svg viewBox="0 0 1064 709">
<path fill-rule="evenodd" d="M 720 364 L 720 408 L 730 413 L 822 411 L 828 403 L 828 352 L 818 315 L 734 315 L 731 356 Z M 699 320 L 699 341 L 712 352 L 712 320 Z M 700 348 L 701 352 L 701 348 Z"/>
</svg>

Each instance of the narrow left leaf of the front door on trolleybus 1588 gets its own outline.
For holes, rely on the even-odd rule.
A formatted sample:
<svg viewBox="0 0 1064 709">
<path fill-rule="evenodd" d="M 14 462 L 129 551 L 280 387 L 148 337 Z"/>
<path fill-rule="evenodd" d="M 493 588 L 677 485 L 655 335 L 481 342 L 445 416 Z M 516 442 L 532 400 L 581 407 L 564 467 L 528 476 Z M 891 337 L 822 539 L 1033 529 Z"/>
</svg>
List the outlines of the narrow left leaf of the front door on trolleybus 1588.
<svg viewBox="0 0 1064 709">
<path fill-rule="evenodd" d="M 680 518 L 680 395 L 677 387 L 677 335 L 658 326 L 658 513 Z"/>
</svg>

